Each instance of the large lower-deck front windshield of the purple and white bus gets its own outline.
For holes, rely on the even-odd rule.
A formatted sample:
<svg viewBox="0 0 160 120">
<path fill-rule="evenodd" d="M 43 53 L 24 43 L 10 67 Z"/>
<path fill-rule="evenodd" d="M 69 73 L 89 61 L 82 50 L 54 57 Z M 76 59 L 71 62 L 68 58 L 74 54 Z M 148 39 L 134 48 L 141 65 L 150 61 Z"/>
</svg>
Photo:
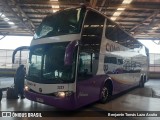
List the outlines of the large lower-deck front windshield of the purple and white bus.
<svg viewBox="0 0 160 120">
<path fill-rule="evenodd" d="M 28 79 L 39 83 L 73 82 L 75 65 L 64 64 L 68 43 L 61 42 L 32 47 Z"/>
</svg>

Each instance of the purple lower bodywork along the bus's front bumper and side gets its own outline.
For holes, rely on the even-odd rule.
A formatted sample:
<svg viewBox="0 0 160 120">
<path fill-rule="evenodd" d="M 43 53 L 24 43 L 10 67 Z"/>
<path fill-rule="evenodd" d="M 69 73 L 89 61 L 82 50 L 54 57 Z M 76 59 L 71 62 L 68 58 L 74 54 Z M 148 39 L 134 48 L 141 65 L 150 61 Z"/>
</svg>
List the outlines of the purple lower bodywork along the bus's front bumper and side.
<svg viewBox="0 0 160 120">
<path fill-rule="evenodd" d="M 74 93 L 70 97 L 58 98 L 32 92 L 25 92 L 25 96 L 30 100 L 48 104 L 56 108 L 74 110 L 98 101 L 101 98 L 101 89 L 104 85 L 105 79 L 107 78 L 108 77 L 106 75 L 97 75 L 89 78 L 88 80 L 79 80 L 77 82 L 76 94 Z M 112 79 L 112 83 L 113 95 L 138 85 L 138 83 L 132 85 L 127 83 L 124 84 L 114 79 Z"/>
</svg>

